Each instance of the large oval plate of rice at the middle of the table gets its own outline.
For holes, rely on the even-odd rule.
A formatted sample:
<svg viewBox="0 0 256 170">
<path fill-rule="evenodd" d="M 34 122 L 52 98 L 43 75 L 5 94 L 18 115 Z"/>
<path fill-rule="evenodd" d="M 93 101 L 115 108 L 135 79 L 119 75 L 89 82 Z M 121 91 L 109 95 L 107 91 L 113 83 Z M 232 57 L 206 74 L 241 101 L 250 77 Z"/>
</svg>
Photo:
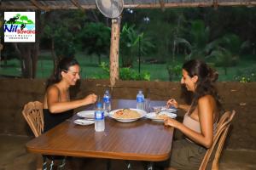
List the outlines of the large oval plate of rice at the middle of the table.
<svg viewBox="0 0 256 170">
<path fill-rule="evenodd" d="M 119 109 L 110 111 L 108 116 L 119 122 L 134 122 L 146 115 L 146 111 L 139 109 Z"/>
</svg>

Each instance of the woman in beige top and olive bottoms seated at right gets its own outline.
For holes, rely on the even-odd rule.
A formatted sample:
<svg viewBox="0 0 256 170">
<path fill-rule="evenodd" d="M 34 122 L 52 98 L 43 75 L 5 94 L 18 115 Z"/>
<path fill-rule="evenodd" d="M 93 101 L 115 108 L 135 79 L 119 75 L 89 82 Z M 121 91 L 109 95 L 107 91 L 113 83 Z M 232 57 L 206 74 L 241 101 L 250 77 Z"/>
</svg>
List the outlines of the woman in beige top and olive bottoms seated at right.
<svg viewBox="0 0 256 170">
<path fill-rule="evenodd" d="M 213 142 L 219 112 L 220 99 L 213 82 L 218 73 L 201 60 L 193 59 L 183 64 L 181 83 L 193 94 L 190 105 L 178 104 L 169 99 L 167 105 L 186 111 L 183 123 L 172 118 L 165 120 L 166 126 L 177 128 L 184 139 L 172 143 L 172 153 L 167 167 L 176 169 L 199 169 L 207 148 Z"/>
</svg>

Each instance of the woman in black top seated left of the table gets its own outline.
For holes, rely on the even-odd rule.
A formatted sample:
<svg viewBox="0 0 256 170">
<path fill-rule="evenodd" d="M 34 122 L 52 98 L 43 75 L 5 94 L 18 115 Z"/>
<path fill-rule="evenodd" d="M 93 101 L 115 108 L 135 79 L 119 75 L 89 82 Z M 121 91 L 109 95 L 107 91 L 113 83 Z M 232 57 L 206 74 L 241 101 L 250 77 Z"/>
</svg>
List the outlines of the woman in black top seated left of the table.
<svg viewBox="0 0 256 170">
<path fill-rule="evenodd" d="M 71 57 L 61 59 L 56 66 L 44 95 L 44 132 L 73 116 L 73 109 L 96 102 L 96 94 L 70 100 L 69 88 L 79 81 L 79 73 L 79 63 Z"/>
</svg>

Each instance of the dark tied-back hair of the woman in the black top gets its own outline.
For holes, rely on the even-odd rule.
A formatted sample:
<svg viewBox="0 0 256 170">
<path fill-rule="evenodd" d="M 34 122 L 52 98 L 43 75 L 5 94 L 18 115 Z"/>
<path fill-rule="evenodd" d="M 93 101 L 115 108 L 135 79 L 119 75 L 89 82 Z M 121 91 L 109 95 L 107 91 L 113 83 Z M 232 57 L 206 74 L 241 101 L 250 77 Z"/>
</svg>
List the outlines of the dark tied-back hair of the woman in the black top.
<svg viewBox="0 0 256 170">
<path fill-rule="evenodd" d="M 68 71 L 69 67 L 73 65 L 79 65 L 79 62 L 73 57 L 64 57 L 59 62 L 55 68 L 55 71 L 49 77 L 46 88 L 49 88 L 50 85 L 61 82 L 61 71 Z"/>
</svg>

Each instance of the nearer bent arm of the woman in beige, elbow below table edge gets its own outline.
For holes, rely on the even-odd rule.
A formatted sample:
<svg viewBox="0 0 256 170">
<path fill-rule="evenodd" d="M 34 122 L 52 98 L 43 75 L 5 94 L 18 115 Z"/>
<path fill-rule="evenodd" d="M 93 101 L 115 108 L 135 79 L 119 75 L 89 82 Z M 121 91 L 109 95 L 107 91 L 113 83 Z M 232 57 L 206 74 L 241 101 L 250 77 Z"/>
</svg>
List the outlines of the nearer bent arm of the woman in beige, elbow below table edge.
<svg viewBox="0 0 256 170">
<path fill-rule="evenodd" d="M 195 132 L 189 127 L 184 126 L 183 123 L 177 122 L 172 118 L 166 119 L 165 124 L 179 129 L 195 143 L 209 148 L 213 141 L 213 111 L 214 99 L 212 96 L 207 95 L 198 100 L 198 116 L 201 124 L 201 133 Z"/>
</svg>

